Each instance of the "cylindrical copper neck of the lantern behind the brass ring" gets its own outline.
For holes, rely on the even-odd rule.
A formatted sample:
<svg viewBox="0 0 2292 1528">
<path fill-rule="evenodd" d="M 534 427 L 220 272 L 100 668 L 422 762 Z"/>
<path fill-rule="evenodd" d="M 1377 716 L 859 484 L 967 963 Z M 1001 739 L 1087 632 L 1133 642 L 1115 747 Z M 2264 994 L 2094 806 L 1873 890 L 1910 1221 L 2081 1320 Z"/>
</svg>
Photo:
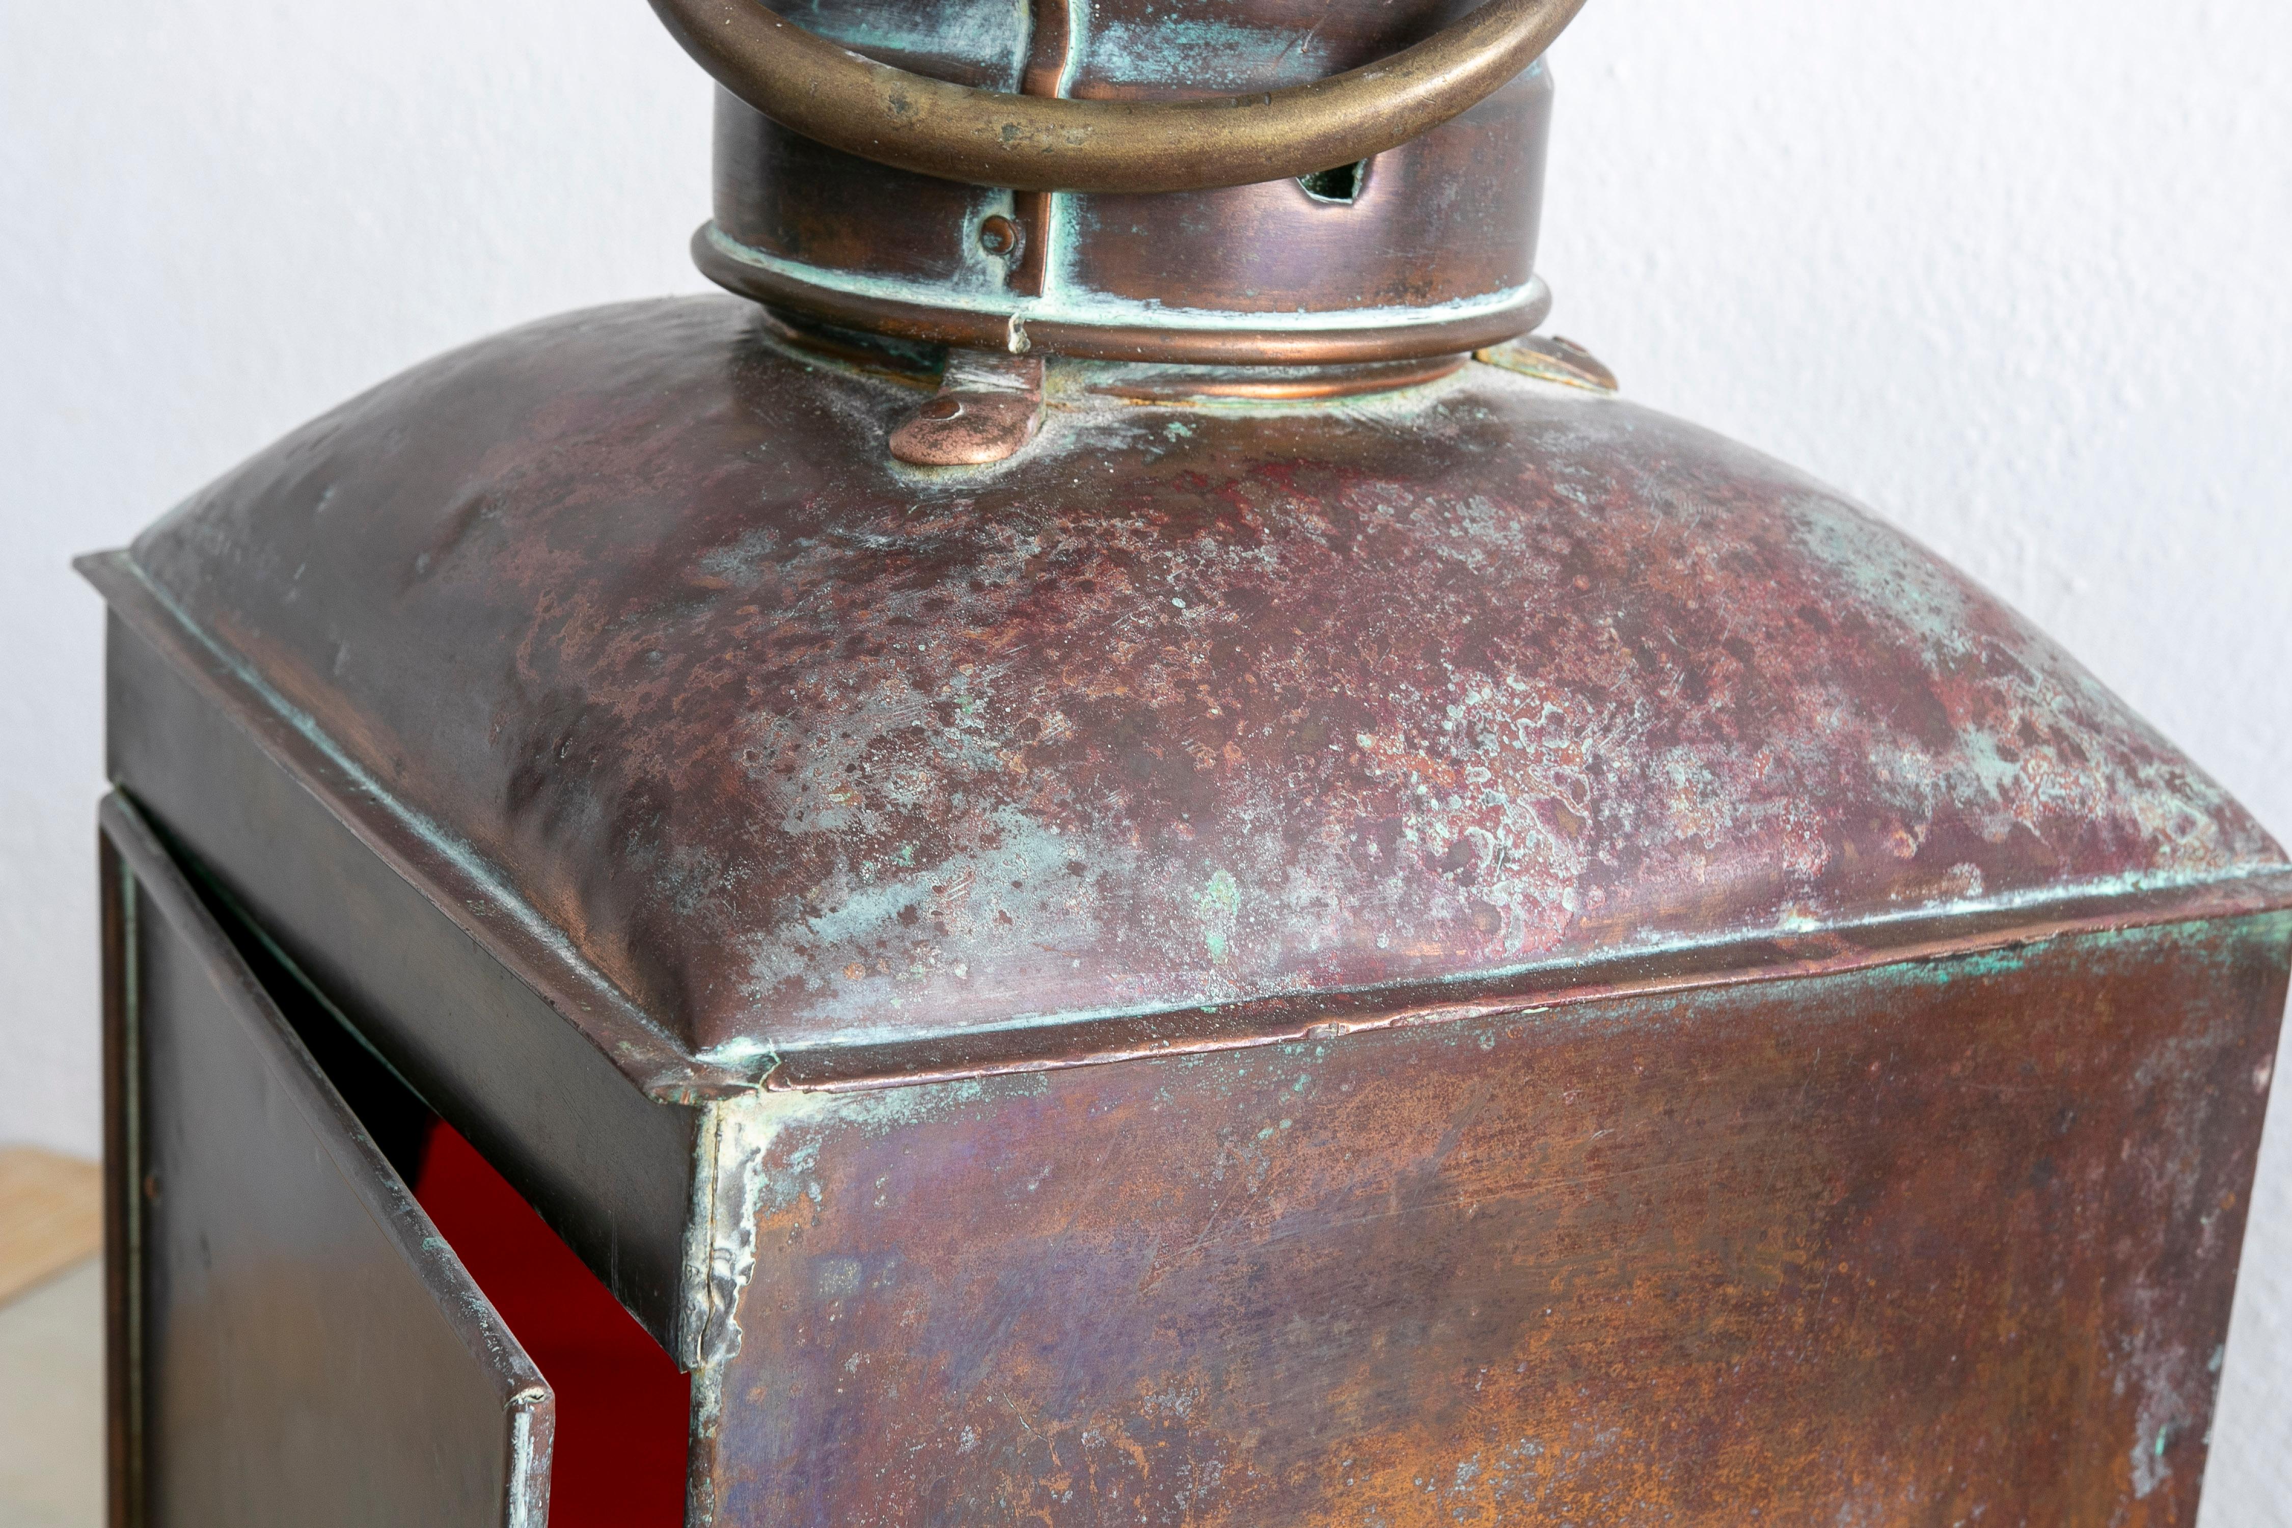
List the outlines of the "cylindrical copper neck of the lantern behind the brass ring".
<svg viewBox="0 0 2292 1528">
<path fill-rule="evenodd" d="M 807 25 L 960 85 L 1153 110 L 1371 64 L 1469 9 L 1467 0 L 827 0 Z M 1439 355 L 1508 339 L 1543 316 L 1533 266 L 1549 119 L 1552 78 L 1538 64 L 1366 163 L 1313 165 L 1343 172 L 1311 188 L 1267 172 L 1222 190 L 1080 195 L 889 170 L 724 94 L 715 220 L 692 250 L 731 291 L 935 341 L 1004 348 L 1018 321 L 1038 351 L 1105 360 Z"/>
</svg>

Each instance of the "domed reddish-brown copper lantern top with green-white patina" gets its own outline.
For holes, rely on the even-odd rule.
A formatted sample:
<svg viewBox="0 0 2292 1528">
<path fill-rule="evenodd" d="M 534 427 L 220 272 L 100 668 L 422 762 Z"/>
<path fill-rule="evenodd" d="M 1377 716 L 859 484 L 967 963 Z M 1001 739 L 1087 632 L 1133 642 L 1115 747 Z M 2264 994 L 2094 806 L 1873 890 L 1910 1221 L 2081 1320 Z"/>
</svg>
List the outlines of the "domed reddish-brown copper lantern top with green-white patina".
<svg viewBox="0 0 2292 1528">
<path fill-rule="evenodd" d="M 882 449 L 917 392 L 749 305 L 596 309 L 133 557 L 720 1058 L 2283 861 L 2012 612 L 1705 431 L 1478 364 L 1293 408 L 1091 376 L 931 476 Z"/>
</svg>

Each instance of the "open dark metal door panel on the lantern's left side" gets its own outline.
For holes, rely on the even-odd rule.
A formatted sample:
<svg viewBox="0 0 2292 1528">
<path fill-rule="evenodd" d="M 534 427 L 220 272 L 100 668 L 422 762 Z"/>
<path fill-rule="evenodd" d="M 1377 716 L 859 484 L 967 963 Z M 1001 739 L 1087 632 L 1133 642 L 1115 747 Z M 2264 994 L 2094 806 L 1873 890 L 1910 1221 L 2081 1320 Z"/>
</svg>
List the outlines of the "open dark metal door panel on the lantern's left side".
<svg viewBox="0 0 2292 1528">
<path fill-rule="evenodd" d="M 119 797 L 103 868 L 112 1521 L 536 1528 L 541 1372 Z"/>
</svg>

